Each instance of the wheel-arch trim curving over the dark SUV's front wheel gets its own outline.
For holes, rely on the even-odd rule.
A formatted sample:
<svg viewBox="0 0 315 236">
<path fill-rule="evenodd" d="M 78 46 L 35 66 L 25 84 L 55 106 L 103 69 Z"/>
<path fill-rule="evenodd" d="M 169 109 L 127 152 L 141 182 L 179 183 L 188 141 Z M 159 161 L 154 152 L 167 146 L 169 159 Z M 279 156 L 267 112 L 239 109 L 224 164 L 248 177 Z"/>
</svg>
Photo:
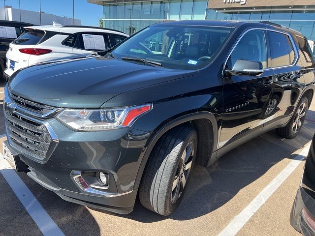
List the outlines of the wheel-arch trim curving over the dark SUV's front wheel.
<svg viewBox="0 0 315 236">
<path fill-rule="evenodd" d="M 168 122 L 167 124 L 165 124 L 164 126 L 162 126 L 155 134 L 153 134 L 153 138 L 150 140 L 150 143 L 148 144 L 147 148 L 145 149 L 145 151 L 142 154 L 142 158 L 141 158 L 141 164 L 135 179 L 135 183 L 133 185 L 133 189 L 137 189 L 140 185 L 140 181 L 144 172 L 144 169 L 146 167 L 147 161 L 150 157 L 150 154 L 153 150 L 153 148 L 155 147 L 155 145 L 157 144 L 158 140 L 160 139 L 160 137 L 165 134 L 167 131 L 169 131 L 170 129 L 174 128 L 175 126 L 178 126 L 180 124 L 189 122 L 189 121 L 193 121 L 196 119 L 208 119 L 210 120 L 211 124 L 212 124 L 212 132 L 213 132 L 213 147 L 212 147 L 212 153 L 217 149 L 218 147 L 218 124 L 217 124 L 217 119 L 215 118 L 215 116 L 210 113 L 210 112 L 195 112 L 195 113 L 191 113 L 191 114 L 187 114 L 184 115 L 182 117 L 179 118 L 175 118 L 172 121 Z M 209 160 L 212 159 L 213 155 L 209 156 Z M 207 162 L 207 163 L 208 163 Z"/>
</svg>

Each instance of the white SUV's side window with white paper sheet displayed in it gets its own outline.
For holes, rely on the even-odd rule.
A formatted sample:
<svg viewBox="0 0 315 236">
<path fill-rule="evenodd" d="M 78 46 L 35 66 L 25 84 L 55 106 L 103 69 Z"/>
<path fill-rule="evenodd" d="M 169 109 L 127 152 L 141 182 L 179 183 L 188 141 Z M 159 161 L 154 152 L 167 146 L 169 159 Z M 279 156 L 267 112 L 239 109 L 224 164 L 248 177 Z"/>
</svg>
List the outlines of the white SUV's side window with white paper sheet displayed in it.
<svg viewBox="0 0 315 236">
<path fill-rule="evenodd" d="M 109 40 L 105 33 L 80 33 L 74 47 L 89 51 L 101 51 L 108 49 Z"/>
</svg>

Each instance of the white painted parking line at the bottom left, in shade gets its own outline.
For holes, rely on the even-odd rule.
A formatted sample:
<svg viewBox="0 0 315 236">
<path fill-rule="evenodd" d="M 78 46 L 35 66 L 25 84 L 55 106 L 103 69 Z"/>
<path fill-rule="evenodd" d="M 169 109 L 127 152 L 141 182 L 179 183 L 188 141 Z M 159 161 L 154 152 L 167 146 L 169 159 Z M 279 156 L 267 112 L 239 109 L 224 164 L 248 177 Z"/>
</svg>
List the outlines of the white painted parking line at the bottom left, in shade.
<svg viewBox="0 0 315 236">
<path fill-rule="evenodd" d="M 59 229 L 53 219 L 47 214 L 45 209 L 40 205 L 30 189 L 25 185 L 23 180 L 16 174 L 9 163 L 3 158 L 1 153 L 0 173 L 8 182 L 13 192 L 23 204 L 25 209 L 29 212 L 32 219 L 44 236 L 64 236 L 63 232 Z"/>
</svg>

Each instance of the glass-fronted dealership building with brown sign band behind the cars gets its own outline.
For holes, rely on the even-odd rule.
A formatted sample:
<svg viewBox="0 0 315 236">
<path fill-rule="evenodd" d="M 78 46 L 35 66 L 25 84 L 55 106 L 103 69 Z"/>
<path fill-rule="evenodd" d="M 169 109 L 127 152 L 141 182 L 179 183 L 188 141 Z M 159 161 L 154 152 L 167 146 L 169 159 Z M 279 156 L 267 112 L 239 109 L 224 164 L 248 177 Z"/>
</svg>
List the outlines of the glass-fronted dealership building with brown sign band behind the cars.
<svg viewBox="0 0 315 236">
<path fill-rule="evenodd" d="M 103 27 L 133 34 L 164 20 L 270 21 L 315 41 L 315 0 L 87 0 L 103 6 Z"/>
</svg>

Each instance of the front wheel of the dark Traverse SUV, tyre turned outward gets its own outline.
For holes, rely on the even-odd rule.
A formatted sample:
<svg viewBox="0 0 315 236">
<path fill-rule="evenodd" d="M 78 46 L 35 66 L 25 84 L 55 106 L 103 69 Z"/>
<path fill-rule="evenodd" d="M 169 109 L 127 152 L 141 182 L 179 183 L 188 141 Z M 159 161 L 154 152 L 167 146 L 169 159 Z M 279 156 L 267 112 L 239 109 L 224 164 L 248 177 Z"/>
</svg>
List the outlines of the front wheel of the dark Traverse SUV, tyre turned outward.
<svg viewBox="0 0 315 236">
<path fill-rule="evenodd" d="M 197 133 L 179 126 L 156 144 L 144 171 L 140 187 L 141 204 L 161 215 L 179 206 L 187 186 L 197 150 Z"/>
</svg>

